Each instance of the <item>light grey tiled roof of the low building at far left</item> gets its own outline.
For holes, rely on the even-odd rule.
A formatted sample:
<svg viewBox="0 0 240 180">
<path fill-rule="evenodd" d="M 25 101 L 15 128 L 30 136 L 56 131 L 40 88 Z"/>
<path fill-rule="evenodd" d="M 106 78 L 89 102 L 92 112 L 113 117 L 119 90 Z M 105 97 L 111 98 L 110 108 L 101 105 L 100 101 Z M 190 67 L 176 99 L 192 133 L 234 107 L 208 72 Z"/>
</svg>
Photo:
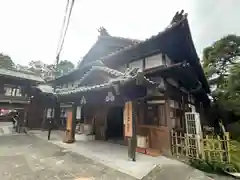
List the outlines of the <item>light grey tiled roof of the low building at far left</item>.
<svg viewBox="0 0 240 180">
<path fill-rule="evenodd" d="M 20 79 L 31 80 L 31 81 L 44 82 L 44 80 L 40 76 L 23 73 L 19 71 L 14 71 L 14 70 L 9 70 L 9 69 L 4 69 L 4 68 L 0 68 L 0 76 L 10 76 L 10 77 L 15 77 Z"/>
</svg>

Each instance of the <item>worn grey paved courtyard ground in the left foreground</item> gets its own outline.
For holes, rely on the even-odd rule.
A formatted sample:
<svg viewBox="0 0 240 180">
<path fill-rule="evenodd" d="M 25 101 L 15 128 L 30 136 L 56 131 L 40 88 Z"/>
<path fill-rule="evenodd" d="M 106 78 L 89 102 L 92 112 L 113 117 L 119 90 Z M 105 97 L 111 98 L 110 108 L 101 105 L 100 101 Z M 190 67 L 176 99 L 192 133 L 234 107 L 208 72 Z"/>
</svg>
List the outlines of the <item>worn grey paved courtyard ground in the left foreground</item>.
<svg viewBox="0 0 240 180">
<path fill-rule="evenodd" d="M 0 136 L 1 180 L 134 180 L 31 135 Z"/>
</svg>

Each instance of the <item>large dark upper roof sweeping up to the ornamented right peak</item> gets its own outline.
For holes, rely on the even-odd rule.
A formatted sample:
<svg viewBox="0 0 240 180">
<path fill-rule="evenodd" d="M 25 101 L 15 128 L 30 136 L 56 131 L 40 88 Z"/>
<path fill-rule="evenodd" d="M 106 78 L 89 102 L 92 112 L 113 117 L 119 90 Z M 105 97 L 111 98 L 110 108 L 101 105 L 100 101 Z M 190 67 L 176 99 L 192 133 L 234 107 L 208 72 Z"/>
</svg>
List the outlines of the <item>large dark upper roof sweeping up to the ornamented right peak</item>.
<svg viewBox="0 0 240 180">
<path fill-rule="evenodd" d="M 192 41 L 187 14 L 184 14 L 183 11 L 180 14 L 176 13 L 170 25 L 157 35 L 142 42 L 130 43 L 98 59 L 105 65 L 114 68 L 114 65 L 119 66 L 160 52 L 166 53 L 175 63 L 185 60 L 190 63 L 204 89 L 209 92 L 209 86 Z M 91 60 L 94 61 L 96 58 Z"/>
</svg>

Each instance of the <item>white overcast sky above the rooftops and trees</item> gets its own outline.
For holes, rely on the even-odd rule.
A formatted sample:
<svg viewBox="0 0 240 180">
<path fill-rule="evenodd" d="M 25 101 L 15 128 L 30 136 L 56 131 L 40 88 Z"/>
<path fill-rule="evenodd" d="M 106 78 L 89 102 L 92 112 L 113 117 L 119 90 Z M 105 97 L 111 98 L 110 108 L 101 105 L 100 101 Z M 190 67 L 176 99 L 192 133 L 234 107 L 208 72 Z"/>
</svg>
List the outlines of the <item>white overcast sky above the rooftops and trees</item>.
<svg viewBox="0 0 240 180">
<path fill-rule="evenodd" d="M 176 11 L 188 13 L 199 55 L 220 37 L 240 35 L 240 0 L 75 0 L 61 59 L 75 64 L 104 26 L 111 35 L 145 39 Z M 67 0 L 0 0 L 0 52 L 15 63 L 53 63 Z"/>
</svg>

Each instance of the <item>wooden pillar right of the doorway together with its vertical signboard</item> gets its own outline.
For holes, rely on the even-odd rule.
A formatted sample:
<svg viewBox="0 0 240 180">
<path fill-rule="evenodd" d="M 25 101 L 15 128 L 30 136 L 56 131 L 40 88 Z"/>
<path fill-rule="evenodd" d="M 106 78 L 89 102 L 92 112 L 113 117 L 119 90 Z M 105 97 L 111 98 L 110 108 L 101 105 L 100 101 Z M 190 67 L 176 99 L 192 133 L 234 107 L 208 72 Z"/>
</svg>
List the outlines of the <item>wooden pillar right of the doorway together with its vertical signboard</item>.
<svg viewBox="0 0 240 180">
<path fill-rule="evenodd" d="M 124 124 L 125 124 L 125 136 L 128 139 L 128 158 L 132 161 L 136 161 L 136 104 L 129 101 L 125 103 L 124 109 Z"/>
</svg>

